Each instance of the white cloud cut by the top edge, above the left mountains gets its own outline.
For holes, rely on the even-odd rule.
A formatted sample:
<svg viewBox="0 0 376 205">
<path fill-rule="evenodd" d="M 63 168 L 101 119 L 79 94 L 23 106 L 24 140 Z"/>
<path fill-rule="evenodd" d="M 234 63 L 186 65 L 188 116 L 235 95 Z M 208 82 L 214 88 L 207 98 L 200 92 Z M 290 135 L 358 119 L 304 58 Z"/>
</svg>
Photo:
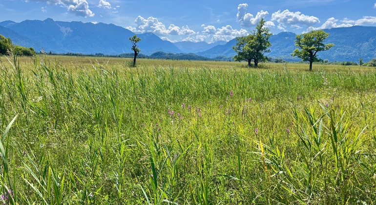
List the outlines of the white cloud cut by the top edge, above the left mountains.
<svg viewBox="0 0 376 205">
<path fill-rule="evenodd" d="M 44 2 L 51 5 L 60 5 L 68 9 L 69 12 L 83 17 L 93 17 L 94 13 L 89 9 L 86 0 L 31 0 Z"/>
</svg>

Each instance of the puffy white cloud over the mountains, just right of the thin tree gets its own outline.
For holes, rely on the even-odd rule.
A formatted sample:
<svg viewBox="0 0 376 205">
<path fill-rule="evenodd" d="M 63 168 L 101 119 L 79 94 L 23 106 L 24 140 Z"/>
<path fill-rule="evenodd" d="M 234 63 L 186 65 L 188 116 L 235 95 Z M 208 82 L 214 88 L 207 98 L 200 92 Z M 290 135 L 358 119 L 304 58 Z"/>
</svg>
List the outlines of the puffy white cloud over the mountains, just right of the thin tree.
<svg viewBox="0 0 376 205">
<path fill-rule="evenodd" d="M 174 24 L 170 24 L 168 28 L 162 22 L 158 21 L 157 18 L 149 17 L 147 19 L 143 18 L 142 16 L 138 16 L 137 19 L 134 21 L 136 23 L 136 27 L 128 26 L 127 29 L 133 32 L 153 32 L 156 35 L 160 36 L 167 36 L 167 35 L 194 35 L 196 34 L 195 31 L 190 29 L 188 25 L 186 26 L 176 26 Z"/>
</svg>

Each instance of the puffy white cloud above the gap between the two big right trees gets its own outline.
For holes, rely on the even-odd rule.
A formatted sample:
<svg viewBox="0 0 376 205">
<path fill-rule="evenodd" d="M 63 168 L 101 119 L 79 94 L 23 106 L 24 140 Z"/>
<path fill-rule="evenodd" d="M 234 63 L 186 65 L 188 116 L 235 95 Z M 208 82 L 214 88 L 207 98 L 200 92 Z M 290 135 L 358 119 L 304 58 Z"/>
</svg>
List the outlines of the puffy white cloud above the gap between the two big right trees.
<svg viewBox="0 0 376 205">
<path fill-rule="evenodd" d="M 320 20 L 314 16 L 306 16 L 301 14 L 299 11 L 291 12 L 289 10 L 281 10 L 274 12 L 272 14 L 272 21 L 277 21 L 279 25 L 277 26 L 280 30 L 286 30 L 287 26 L 299 27 L 299 25 L 312 26 L 315 23 L 319 23 Z"/>
</svg>

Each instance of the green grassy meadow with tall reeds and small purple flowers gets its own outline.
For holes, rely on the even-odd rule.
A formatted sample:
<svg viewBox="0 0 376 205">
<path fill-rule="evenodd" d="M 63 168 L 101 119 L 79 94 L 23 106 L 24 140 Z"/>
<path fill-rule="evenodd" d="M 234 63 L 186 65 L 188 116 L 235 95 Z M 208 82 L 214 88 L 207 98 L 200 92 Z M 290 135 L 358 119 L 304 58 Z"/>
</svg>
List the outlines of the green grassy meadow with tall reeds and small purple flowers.
<svg viewBox="0 0 376 205">
<path fill-rule="evenodd" d="M 376 72 L 0 58 L 4 204 L 374 204 Z"/>
</svg>

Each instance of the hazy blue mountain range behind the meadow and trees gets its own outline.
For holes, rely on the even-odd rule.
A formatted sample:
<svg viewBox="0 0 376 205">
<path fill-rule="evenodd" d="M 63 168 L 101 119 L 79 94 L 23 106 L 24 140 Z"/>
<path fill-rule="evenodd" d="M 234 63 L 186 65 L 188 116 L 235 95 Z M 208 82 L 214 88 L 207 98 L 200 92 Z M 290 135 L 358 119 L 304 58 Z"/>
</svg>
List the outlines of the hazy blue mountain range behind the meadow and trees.
<svg viewBox="0 0 376 205">
<path fill-rule="evenodd" d="M 329 51 L 318 53 L 319 58 L 329 61 L 354 61 L 363 58 L 364 62 L 376 58 L 376 27 L 353 26 L 347 28 L 324 29 L 330 33 L 326 42 L 334 43 Z M 22 22 L 0 22 L 0 34 L 12 39 L 14 44 L 33 47 L 36 51 L 44 50 L 53 53 L 109 54 L 131 53 L 129 37 L 135 35 L 121 26 L 105 23 L 83 23 L 81 21 L 54 21 L 52 19 L 26 20 Z M 151 55 L 158 51 L 166 53 L 195 53 L 196 55 L 216 58 L 233 57 L 231 41 L 172 43 L 164 41 L 153 33 L 137 34 L 141 38 L 138 43 L 141 53 Z M 291 53 L 296 34 L 281 32 L 272 35 L 271 52 L 266 56 L 282 58 L 287 61 L 299 61 Z"/>
</svg>

